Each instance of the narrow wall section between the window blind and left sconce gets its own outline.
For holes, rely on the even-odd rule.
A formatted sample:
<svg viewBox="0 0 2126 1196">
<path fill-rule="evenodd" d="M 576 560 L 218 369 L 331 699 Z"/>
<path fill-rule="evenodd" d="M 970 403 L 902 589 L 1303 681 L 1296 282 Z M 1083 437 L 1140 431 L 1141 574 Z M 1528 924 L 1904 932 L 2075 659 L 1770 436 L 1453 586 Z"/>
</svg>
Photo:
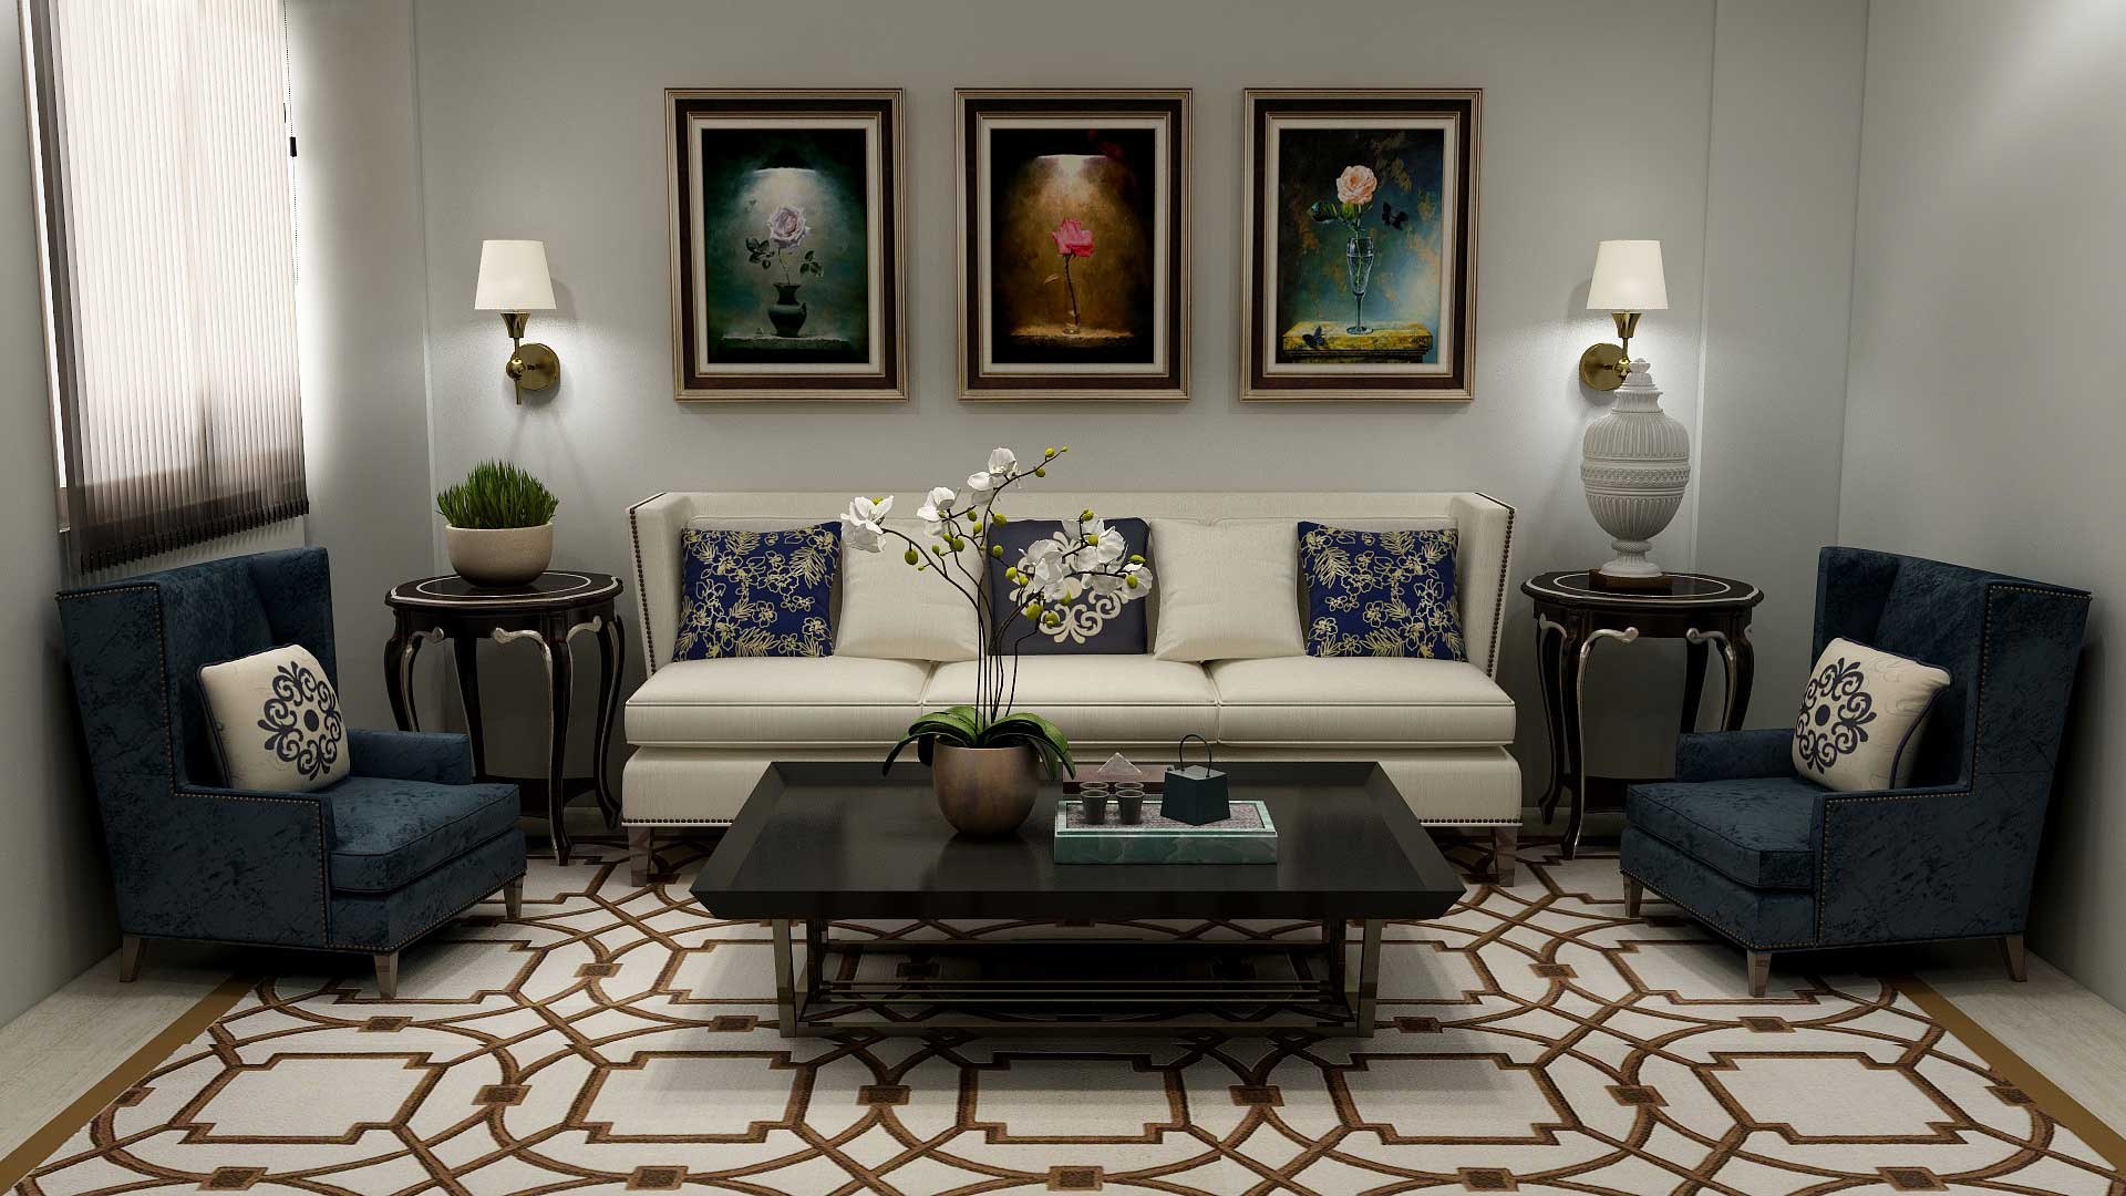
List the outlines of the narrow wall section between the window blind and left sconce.
<svg viewBox="0 0 2126 1196">
<path fill-rule="evenodd" d="M 308 538 L 349 726 L 391 726 L 387 589 L 434 572 L 408 0 L 287 0 Z"/>
</svg>

